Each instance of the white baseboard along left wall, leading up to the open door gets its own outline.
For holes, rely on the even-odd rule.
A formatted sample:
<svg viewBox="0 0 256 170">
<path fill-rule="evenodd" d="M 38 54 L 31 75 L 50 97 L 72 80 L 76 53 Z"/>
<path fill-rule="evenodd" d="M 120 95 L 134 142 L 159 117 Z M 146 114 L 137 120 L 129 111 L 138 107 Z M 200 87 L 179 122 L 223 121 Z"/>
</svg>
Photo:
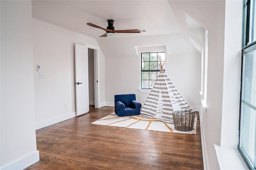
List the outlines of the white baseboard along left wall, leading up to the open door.
<svg viewBox="0 0 256 170">
<path fill-rule="evenodd" d="M 67 114 L 60 115 L 60 116 L 57 116 L 57 117 L 53 117 L 51 119 L 47 119 L 47 120 L 44 120 L 44 121 L 41 121 L 41 122 L 36 122 L 36 130 L 38 130 L 40 128 L 48 127 L 50 125 L 54 125 L 55 123 L 66 121 L 66 120 L 71 119 L 73 117 L 76 117 L 76 112 L 67 113 Z"/>
</svg>

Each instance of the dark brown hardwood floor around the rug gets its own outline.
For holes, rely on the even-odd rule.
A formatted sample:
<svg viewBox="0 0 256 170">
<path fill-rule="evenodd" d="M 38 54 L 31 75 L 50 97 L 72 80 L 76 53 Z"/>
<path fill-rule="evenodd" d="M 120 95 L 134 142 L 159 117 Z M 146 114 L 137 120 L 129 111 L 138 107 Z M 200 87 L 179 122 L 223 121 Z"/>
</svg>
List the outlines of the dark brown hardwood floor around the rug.
<svg viewBox="0 0 256 170">
<path fill-rule="evenodd" d="M 196 135 L 91 124 L 113 112 L 90 106 L 88 114 L 36 130 L 40 161 L 26 170 L 203 169 L 199 114 Z"/>
</svg>

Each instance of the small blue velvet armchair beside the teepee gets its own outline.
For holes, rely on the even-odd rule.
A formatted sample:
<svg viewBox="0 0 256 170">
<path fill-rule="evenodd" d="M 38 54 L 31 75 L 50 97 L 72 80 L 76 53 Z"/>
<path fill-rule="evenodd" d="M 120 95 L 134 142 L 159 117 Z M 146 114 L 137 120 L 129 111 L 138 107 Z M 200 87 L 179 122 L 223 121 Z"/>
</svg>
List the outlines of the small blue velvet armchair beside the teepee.
<svg viewBox="0 0 256 170">
<path fill-rule="evenodd" d="M 118 116 L 140 115 L 141 104 L 135 94 L 115 95 L 115 113 Z"/>
</svg>

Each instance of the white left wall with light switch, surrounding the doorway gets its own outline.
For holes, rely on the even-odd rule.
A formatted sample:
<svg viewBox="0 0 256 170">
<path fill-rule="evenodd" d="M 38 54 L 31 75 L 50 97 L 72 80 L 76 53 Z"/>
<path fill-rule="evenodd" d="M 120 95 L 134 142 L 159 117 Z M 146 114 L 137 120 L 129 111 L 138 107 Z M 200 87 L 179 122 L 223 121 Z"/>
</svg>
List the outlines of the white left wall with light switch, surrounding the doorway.
<svg viewBox="0 0 256 170">
<path fill-rule="evenodd" d="M 74 44 L 98 46 L 95 39 L 58 26 L 33 21 L 36 127 L 42 128 L 75 116 Z M 100 52 L 100 103 L 104 102 L 104 55 Z M 44 78 L 39 79 L 36 65 Z M 66 108 L 65 108 L 66 103 Z"/>
</svg>

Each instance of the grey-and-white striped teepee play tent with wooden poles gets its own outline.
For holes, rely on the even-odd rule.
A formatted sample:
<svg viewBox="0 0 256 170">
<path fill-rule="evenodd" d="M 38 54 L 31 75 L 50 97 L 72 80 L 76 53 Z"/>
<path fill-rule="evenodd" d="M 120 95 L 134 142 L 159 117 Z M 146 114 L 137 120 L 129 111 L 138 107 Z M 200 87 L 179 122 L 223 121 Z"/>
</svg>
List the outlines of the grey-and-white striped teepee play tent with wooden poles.
<svg viewBox="0 0 256 170">
<path fill-rule="evenodd" d="M 159 65 L 161 67 L 160 74 L 148 99 L 140 110 L 140 114 L 163 122 L 173 123 L 172 112 L 183 111 L 187 108 L 192 111 L 192 109 L 167 77 L 163 70 L 164 64 L 160 62 Z"/>
</svg>

